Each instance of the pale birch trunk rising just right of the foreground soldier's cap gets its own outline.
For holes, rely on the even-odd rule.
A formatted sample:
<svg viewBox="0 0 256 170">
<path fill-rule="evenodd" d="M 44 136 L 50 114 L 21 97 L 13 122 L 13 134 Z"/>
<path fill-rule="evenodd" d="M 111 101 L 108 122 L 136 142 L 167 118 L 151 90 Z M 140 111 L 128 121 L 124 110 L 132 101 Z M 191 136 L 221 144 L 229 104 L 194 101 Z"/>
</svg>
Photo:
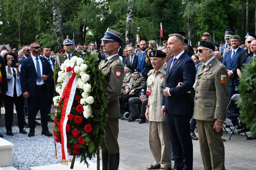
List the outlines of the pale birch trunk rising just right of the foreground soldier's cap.
<svg viewBox="0 0 256 170">
<path fill-rule="evenodd" d="M 126 31 L 125 31 L 125 44 L 132 44 L 133 42 L 133 35 L 132 35 L 132 23 L 133 23 L 133 5 L 134 0 L 128 0 L 128 11 L 127 11 L 127 18 L 126 18 Z"/>
</svg>

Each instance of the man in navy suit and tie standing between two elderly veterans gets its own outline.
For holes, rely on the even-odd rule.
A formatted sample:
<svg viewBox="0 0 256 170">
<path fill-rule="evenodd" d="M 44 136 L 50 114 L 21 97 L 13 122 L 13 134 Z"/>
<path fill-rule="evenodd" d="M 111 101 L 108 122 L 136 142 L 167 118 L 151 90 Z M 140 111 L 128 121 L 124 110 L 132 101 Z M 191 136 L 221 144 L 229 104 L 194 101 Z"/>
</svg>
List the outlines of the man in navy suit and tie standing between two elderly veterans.
<svg viewBox="0 0 256 170">
<path fill-rule="evenodd" d="M 193 113 L 190 90 L 195 82 L 195 64 L 183 50 L 184 40 L 171 34 L 168 51 L 175 57 L 168 61 L 163 90 L 162 114 L 170 132 L 174 151 L 174 169 L 193 169 L 193 144 L 190 136 L 190 117 Z M 182 84 L 177 87 L 178 83 Z M 171 152 L 171 151 L 170 151 Z"/>
</svg>

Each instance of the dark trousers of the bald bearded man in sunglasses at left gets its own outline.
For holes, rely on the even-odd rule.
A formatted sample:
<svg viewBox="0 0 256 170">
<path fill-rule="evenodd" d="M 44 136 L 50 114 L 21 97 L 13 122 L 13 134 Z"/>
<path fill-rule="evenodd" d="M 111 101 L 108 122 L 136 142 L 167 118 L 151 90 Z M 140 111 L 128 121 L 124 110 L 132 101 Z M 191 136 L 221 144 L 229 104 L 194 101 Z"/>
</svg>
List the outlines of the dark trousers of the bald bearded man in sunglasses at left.
<svg viewBox="0 0 256 170">
<path fill-rule="evenodd" d="M 35 130 L 35 117 L 37 115 L 37 107 L 39 107 L 41 114 L 41 126 L 42 130 L 48 130 L 47 121 L 47 103 L 48 103 L 48 92 L 45 88 L 36 88 L 34 95 L 28 97 L 28 127 L 31 131 Z"/>
</svg>

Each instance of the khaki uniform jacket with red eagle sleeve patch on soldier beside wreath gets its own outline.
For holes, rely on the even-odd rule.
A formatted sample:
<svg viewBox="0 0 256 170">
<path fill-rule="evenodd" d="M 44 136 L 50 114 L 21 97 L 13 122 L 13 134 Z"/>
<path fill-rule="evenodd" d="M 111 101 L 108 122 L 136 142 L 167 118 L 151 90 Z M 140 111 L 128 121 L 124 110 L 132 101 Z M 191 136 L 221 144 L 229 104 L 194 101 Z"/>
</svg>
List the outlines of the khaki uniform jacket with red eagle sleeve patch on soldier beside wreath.
<svg viewBox="0 0 256 170">
<path fill-rule="evenodd" d="M 108 107 L 105 109 L 108 118 L 120 117 L 118 96 L 123 84 L 124 65 L 119 55 L 113 56 L 110 60 L 104 60 L 99 64 L 99 69 L 105 76 L 103 80 L 107 89 Z"/>
</svg>

